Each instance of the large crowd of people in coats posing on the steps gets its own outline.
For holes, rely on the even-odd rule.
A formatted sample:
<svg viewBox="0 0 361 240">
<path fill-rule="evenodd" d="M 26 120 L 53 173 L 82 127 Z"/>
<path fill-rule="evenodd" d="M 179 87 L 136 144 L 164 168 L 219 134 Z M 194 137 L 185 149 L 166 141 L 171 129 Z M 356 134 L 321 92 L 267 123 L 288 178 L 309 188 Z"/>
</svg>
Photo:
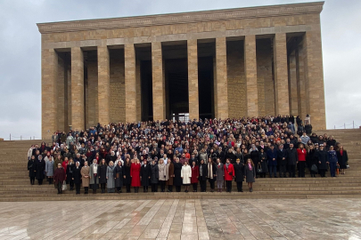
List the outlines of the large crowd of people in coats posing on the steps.
<svg viewBox="0 0 361 240">
<path fill-rule="evenodd" d="M 68 133 L 54 132 L 52 143 L 29 148 L 30 184 L 54 184 L 58 194 L 144 192 L 242 192 L 257 178 L 336 177 L 345 174 L 348 154 L 332 136 L 309 134 L 299 116 L 243 117 L 193 121 L 107 124 Z M 306 131 L 306 130 L 308 131 Z M 278 174 L 277 174 L 278 172 Z M 338 172 L 338 171 L 337 171 Z M 288 174 L 287 174 L 288 173 Z M 277 176 L 278 175 L 278 176 Z M 287 176 L 288 175 L 288 176 Z M 217 182 L 217 189 L 216 189 Z M 200 189 L 198 188 L 198 183 Z M 65 186 L 64 186 L 65 185 Z M 173 189 L 173 186 L 175 189 Z"/>
</svg>

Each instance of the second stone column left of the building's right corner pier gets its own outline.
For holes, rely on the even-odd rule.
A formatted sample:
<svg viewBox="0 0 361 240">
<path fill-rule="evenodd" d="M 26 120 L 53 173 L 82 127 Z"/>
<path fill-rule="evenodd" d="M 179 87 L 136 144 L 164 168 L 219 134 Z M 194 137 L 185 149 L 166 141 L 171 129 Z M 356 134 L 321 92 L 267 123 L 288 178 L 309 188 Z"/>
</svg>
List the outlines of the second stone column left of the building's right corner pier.
<svg viewBox="0 0 361 240">
<path fill-rule="evenodd" d="M 244 71 L 247 88 L 247 115 L 258 116 L 256 36 L 254 35 L 244 38 Z"/>
</svg>

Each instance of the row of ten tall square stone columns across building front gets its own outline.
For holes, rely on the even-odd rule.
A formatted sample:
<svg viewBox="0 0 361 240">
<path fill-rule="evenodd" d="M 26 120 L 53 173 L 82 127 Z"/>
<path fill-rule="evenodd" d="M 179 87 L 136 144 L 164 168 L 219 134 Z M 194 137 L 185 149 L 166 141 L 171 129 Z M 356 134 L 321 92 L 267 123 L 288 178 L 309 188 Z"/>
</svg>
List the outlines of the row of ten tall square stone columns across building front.
<svg viewBox="0 0 361 240">
<path fill-rule="evenodd" d="M 258 116 L 258 84 L 257 84 L 257 58 L 256 58 L 255 35 L 244 36 L 244 69 L 247 92 L 247 114 Z M 308 114 L 314 114 L 318 120 L 324 121 L 324 112 L 320 115 L 313 109 L 312 98 L 319 98 L 319 89 L 324 91 L 322 72 L 321 43 L 315 33 L 305 33 L 303 41 L 302 64 L 304 66 L 304 79 L 296 81 L 299 71 L 289 71 L 288 64 L 296 68 L 296 59 L 299 52 L 292 52 L 289 63 L 287 58 L 287 41 L 285 33 L 277 33 L 273 40 L 274 50 L 274 80 L 275 80 L 275 115 L 288 115 L 299 113 L 301 105 Z M 166 118 L 166 92 L 164 65 L 160 42 L 152 42 L 152 104 L 153 119 L 163 120 Z M 199 89 L 198 89 L 198 53 L 197 39 L 187 40 L 188 61 L 188 94 L 189 94 L 189 117 L 199 118 Z M 98 58 L 98 120 L 101 124 L 111 122 L 110 117 L 110 54 L 106 45 L 97 46 Z M 135 44 L 124 45 L 125 59 L 125 93 L 126 93 L 126 122 L 140 121 L 140 100 L 136 92 L 140 87 L 140 76 L 136 69 L 139 68 L 135 60 Z M 53 49 L 42 50 L 42 87 L 43 87 L 43 138 L 50 136 L 58 128 L 56 125 L 56 95 L 57 81 L 57 53 Z M 316 69 L 320 68 L 321 69 Z M 293 68 L 293 67 L 291 67 Z M 227 61 L 226 61 L 226 37 L 216 38 L 216 62 L 214 79 L 214 104 L 215 117 L 228 117 L 227 96 Z M 290 79 L 289 79 L 290 74 Z M 291 84 L 302 84 L 294 88 Z M 311 87 L 312 85 L 312 87 Z M 71 48 L 71 116 L 69 119 L 73 129 L 85 128 L 85 98 L 84 98 L 84 56 L 80 47 Z M 302 95 L 303 94 L 303 95 Z M 314 95 L 315 94 L 315 95 Z M 321 93 L 322 94 L 322 93 Z M 302 96 L 301 96 L 302 95 Z M 138 94 L 139 96 L 139 94 Z M 303 98 L 304 101 L 299 100 Z M 310 99 L 310 100 L 308 100 Z M 324 111 L 322 102 L 321 111 Z M 297 107 L 296 107 L 297 105 Z M 323 107 L 323 108 L 322 108 Z M 303 107 L 302 107 L 303 108 Z M 293 113 L 293 112 L 294 113 Z M 297 113 L 296 113 L 297 112 Z M 321 126 L 323 128 L 323 126 Z"/>
</svg>

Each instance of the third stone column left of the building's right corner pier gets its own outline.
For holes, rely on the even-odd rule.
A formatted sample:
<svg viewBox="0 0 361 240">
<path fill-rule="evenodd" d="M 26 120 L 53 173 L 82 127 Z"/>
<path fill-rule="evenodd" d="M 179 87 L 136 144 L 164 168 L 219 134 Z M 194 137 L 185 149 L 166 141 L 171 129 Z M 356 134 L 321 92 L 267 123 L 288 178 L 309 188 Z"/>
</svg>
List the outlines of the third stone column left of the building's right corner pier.
<svg viewBox="0 0 361 240">
<path fill-rule="evenodd" d="M 216 79 L 215 88 L 215 115 L 216 118 L 228 118 L 228 83 L 226 60 L 226 37 L 216 38 Z"/>
</svg>

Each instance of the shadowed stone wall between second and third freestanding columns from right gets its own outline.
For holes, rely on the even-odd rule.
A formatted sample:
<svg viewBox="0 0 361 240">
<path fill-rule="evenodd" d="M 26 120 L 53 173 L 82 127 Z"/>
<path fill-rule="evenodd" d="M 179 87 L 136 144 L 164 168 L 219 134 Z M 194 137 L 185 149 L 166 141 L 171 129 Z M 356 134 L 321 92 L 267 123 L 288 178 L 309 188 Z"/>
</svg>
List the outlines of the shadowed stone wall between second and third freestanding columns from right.
<svg viewBox="0 0 361 240">
<path fill-rule="evenodd" d="M 243 51 L 243 41 L 227 42 L 228 111 L 231 118 L 247 116 Z"/>
</svg>

